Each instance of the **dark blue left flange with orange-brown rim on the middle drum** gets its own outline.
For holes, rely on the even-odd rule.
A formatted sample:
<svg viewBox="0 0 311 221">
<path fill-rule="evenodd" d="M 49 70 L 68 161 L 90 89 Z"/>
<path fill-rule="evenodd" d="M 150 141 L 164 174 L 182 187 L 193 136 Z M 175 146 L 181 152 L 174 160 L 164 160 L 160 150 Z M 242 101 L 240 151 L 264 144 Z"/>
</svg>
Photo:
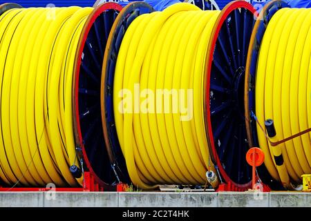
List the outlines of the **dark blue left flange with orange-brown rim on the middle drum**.
<svg viewBox="0 0 311 221">
<path fill-rule="evenodd" d="M 202 8 L 204 8 L 202 6 Z M 207 9 L 207 7 L 205 8 Z M 120 181 L 129 183 L 129 175 L 126 169 L 123 153 L 120 148 L 120 142 L 115 129 L 115 116 L 113 113 L 113 81 L 115 74 L 115 63 L 117 54 L 122 43 L 122 37 L 127 28 L 134 19 L 140 15 L 153 12 L 153 8 L 144 2 L 129 3 L 120 15 L 117 16 L 109 39 L 107 41 L 106 52 L 103 62 L 102 73 L 102 124 L 106 147 L 108 153 L 111 153 L 112 165 L 114 165 L 117 176 Z"/>
</svg>

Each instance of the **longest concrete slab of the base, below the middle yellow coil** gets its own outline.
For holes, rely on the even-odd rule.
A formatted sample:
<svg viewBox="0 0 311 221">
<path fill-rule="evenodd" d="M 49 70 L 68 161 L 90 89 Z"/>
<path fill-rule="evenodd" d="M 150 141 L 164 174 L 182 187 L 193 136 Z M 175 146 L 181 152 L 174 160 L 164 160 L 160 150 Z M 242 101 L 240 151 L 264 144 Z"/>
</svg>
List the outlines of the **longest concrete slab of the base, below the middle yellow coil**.
<svg viewBox="0 0 311 221">
<path fill-rule="evenodd" d="M 119 193 L 120 207 L 217 207 L 217 193 Z"/>
</svg>

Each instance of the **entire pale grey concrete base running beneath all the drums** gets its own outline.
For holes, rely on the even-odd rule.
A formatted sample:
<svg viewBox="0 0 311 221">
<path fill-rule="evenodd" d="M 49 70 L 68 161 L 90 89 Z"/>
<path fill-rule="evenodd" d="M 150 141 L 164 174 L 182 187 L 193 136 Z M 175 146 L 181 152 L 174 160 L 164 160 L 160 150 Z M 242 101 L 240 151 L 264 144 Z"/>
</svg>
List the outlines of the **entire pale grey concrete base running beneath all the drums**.
<svg viewBox="0 0 311 221">
<path fill-rule="evenodd" d="M 284 207 L 310 206 L 311 193 L 3 192 L 0 207 Z"/>
</svg>

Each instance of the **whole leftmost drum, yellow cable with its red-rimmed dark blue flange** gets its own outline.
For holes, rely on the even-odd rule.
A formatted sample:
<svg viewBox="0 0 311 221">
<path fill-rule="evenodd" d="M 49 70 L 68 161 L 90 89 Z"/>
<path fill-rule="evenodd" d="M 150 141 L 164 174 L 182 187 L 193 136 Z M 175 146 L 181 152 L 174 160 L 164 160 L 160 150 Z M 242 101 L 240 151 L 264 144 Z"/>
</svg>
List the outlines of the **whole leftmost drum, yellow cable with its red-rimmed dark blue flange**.
<svg viewBox="0 0 311 221">
<path fill-rule="evenodd" d="M 93 97 L 100 95 L 94 91 L 100 90 L 106 37 L 121 9 L 116 3 L 97 8 L 1 5 L 0 176 L 6 185 L 82 186 L 85 169 L 101 186 L 117 182 L 99 142 L 100 98 Z M 96 62 L 99 66 L 93 66 Z M 99 79 L 97 88 L 90 75 Z"/>
</svg>

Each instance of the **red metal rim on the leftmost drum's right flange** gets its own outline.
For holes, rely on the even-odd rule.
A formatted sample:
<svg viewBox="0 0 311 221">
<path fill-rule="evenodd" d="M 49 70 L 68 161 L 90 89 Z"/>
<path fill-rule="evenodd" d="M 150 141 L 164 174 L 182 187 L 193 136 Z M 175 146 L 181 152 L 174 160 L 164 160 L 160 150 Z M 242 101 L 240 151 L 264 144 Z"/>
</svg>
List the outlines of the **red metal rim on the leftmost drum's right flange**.
<svg viewBox="0 0 311 221">
<path fill-rule="evenodd" d="M 75 71 L 74 71 L 75 77 L 73 81 L 73 84 L 74 84 L 73 85 L 73 96 L 74 96 L 73 97 L 73 110 L 74 110 L 75 142 L 82 148 L 83 157 L 84 157 L 88 170 L 93 175 L 95 181 L 101 186 L 108 186 L 108 184 L 100 180 L 100 177 L 98 177 L 96 173 L 93 171 L 91 162 L 88 160 L 88 157 L 86 155 L 86 150 L 85 150 L 83 139 L 82 139 L 81 126 L 79 122 L 79 70 L 80 70 L 80 65 L 81 65 L 82 52 L 84 50 L 84 45 L 88 37 L 88 32 L 91 30 L 93 23 L 95 22 L 97 17 L 99 17 L 102 14 L 102 12 L 106 10 L 117 10 L 120 12 L 122 10 L 122 6 L 120 6 L 117 3 L 113 3 L 113 2 L 104 3 L 100 5 L 99 7 L 95 8 L 92 14 L 88 17 L 88 20 L 86 21 L 86 24 L 84 25 L 84 29 L 80 37 L 78 50 L 77 50 L 76 57 L 75 57 Z"/>
</svg>

